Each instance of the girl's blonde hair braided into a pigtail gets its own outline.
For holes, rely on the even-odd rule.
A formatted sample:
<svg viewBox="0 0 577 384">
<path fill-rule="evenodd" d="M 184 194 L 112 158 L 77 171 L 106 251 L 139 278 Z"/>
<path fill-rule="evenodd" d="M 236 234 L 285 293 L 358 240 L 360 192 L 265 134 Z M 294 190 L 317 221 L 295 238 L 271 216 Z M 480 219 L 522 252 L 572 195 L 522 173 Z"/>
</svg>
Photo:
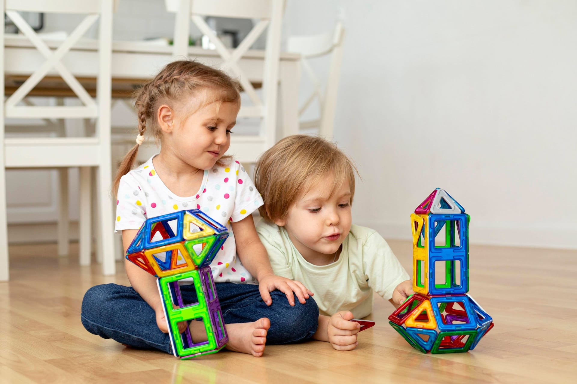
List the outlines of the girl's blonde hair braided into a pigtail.
<svg viewBox="0 0 577 384">
<path fill-rule="evenodd" d="M 144 135 L 144 132 L 148 131 L 157 142 L 160 141 L 162 131 L 156 121 L 157 109 L 162 104 L 168 104 L 173 110 L 181 110 L 183 108 L 176 107 L 183 107 L 186 100 L 200 95 L 203 91 L 212 91 L 212 97 L 205 97 L 196 111 L 212 102 L 218 102 L 219 105 L 223 102 L 240 102 L 241 85 L 223 71 L 190 60 L 177 60 L 166 64 L 155 78 L 134 92 L 138 132 Z M 188 111 L 188 115 L 194 112 Z M 139 145 L 135 145 L 122 159 L 114 177 L 114 194 L 118 191 L 120 178 L 132 169 L 138 147 Z M 230 159 L 230 156 L 223 156 L 216 164 L 227 165 Z"/>
</svg>

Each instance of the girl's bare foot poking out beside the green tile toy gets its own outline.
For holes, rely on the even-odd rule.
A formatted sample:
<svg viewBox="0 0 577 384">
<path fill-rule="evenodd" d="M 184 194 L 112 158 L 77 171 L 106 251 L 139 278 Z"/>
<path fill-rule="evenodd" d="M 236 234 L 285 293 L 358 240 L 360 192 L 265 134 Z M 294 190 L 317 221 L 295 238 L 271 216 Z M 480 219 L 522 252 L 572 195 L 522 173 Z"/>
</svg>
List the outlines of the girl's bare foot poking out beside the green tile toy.
<svg viewBox="0 0 577 384">
<path fill-rule="evenodd" d="M 228 343 L 226 349 L 234 352 L 252 353 L 257 358 L 263 356 L 269 328 L 271 328 L 271 321 L 266 317 L 255 322 L 227 324 Z"/>
</svg>

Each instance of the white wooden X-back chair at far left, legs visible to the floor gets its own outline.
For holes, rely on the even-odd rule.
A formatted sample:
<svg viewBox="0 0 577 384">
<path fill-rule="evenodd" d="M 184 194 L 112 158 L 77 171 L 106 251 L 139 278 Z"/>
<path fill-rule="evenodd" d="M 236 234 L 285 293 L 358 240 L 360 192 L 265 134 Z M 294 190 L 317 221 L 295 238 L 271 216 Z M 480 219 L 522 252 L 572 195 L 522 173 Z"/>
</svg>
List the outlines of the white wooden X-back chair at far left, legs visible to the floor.
<svg viewBox="0 0 577 384">
<path fill-rule="evenodd" d="M 38 37 L 18 12 L 86 14 L 83 21 L 62 45 L 52 51 Z M 99 211 L 99 248 L 102 253 L 104 275 L 115 272 L 113 247 L 112 201 L 109 196 L 111 183 L 110 154 L 110 97 L 111 97 L 111 39 L 113 0 L 0 0 L 0 13 L 6 13 L 18 29 L 28 37 L 46 58 L 12 96 L 4 98 L 4 68 L 0 60 L 2 76 L 0 92 L 3 105 L 0 108 L 0 280 L 8 280 L 8 235 L 6 223 L 5 168 L 67 168 L 80 167 L 80 263 L 90 263 L 91 239 L 91 167 L 98 169 L 97 199 Z M 4 20 L 4 18 L 3 18 Z M 73 47 L 88 29 L 99 21 L 99 73 L 96 100 L 62 64 L 62 57 Z M 4 50 L 4 21 L 0 28 L 2 51 Z M 81 106 L 36 107 L 19 105 L 25 96 L 47 74 L 57 74 L 69 85 L 81 100 Z M 5 138 L 5 118 L 47 119 L 97 119 L 96 134 L 83 138 Z"/>
</svg>

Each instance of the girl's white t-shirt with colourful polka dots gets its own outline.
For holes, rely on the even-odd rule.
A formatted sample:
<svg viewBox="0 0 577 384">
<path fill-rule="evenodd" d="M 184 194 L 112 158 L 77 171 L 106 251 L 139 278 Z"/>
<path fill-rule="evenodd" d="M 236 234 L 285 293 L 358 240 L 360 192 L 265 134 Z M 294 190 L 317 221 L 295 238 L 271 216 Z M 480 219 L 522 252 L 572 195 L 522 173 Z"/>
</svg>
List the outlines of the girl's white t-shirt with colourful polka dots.
<svg viewBox="0 0 577 384">
<path fill-rule="evenodd" d="M 154 157 L 154 156 L 153 156 Z M 216 282 L 255 283 L 237 257 L 231 222 L 242 220 L 263 205 L 245 169 L 238 161 L 204 171 L 203 181 L 193 196 L 177 196 L 156 175 L 152 158 L 122 176 L 118 187 L 114 231 L 140 229 L 148 218 L 197 208 L 211 216 L 230 235 L 211 263 Z"/>
</svg>

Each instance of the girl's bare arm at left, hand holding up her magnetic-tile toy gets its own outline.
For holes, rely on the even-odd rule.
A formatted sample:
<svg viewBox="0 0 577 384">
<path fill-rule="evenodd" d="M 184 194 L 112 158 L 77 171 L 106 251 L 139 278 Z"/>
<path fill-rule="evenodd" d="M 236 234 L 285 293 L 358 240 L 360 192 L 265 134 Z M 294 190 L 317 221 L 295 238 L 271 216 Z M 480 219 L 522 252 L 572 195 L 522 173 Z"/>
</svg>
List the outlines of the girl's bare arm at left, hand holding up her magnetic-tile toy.
<svg viewBox="0 0 577 384">
<path fill-rule="evenodd" d="M 137 233 L 137 229 L 125 229 L 122 231 L 122 246 L 124 248 L 124 254 L 126 254 L 126 250 Z M 144 301 L 147 302 L 155 311 L 156 325 L 158 325 L 158 328 L 162 330 L 162 332 L 167 333 L 168 327 L 162 309 L 162 300 L 160 299 L 158 287 L 156 286 L 156 277 L 133 264 L 131 261 L 126 260 L 126 258 L 124 259 L 124 268 L 126 269 L 126 275 L 128 275 L 128 280 L 130 285 L 132 285 L 132 288 L 134 288 Z M 184 330 L 185 326 L 186 323 L 178 324 L 178 328 L 181 331 Z"/>
</svg>

